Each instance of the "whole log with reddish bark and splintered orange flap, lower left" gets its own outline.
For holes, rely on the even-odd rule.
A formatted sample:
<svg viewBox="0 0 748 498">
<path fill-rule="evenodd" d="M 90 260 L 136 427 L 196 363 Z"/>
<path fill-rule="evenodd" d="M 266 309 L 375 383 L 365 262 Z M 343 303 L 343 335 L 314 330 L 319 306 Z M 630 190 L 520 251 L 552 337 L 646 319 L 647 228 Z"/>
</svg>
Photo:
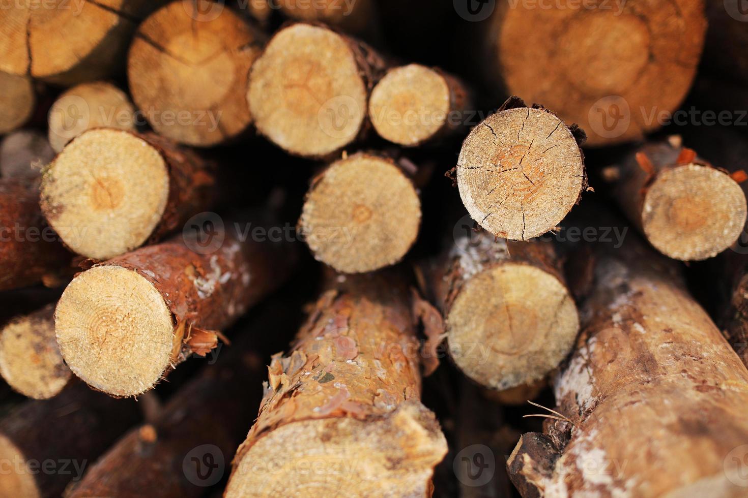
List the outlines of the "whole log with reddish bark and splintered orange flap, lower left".
<svg viewBox="0 0 748 498">
<path fill-rule="evenodd" d="M 57 340 L 76 376 L 113 396 L 153 388 L 190 355 L 205 355 L 295 264 L 290 243 L 240 242 L 216 226 L 209 244 L 184 234 L 105 261 L 67 286 Z"/>
</svg>

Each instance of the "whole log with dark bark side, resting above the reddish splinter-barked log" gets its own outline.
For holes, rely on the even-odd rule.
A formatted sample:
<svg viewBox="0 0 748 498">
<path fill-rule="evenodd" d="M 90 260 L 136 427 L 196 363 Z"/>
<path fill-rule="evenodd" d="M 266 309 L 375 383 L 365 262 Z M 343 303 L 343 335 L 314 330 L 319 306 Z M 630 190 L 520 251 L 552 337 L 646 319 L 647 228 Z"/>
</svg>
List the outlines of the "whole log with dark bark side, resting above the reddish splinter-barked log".
<svg viewBox="0 0 748 498">
<path fill-rule="evenodd" d="M 85 131 L 49 164 L 41 206 L 80 255 L 113 258 L 181 228 L 215 192 L 198 155 L 155 134 Z"/>
</svg>

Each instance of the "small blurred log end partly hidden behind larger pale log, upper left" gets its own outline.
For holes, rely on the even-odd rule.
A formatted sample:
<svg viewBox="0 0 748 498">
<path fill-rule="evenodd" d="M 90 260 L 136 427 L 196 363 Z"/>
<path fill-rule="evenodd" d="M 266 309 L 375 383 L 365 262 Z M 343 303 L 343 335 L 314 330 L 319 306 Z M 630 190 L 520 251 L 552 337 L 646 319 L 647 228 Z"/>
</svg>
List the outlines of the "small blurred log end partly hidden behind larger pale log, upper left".
<svg viewBox="0 0 748 498">
<path fill-rule="evenodd" d="M 105 81 L 82 83 L 58 97 L 49 109 L 49 143 L 55 152 L 91 128 L 135 130 L 135 108 L 119 88 Z"/>
</svg>

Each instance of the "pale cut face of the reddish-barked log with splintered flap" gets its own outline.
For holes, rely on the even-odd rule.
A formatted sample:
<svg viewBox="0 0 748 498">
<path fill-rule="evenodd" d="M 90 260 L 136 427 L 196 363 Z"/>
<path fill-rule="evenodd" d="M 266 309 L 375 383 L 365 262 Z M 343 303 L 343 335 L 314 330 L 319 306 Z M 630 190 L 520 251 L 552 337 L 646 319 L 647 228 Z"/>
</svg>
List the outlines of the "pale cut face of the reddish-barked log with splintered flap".
<svg viewBox="0 0 748 498">
<path fill-rule="evenodd" d="M 171 311 L 150 281 L 123 267 L 76 276 L 58 302 L 55 329 L 70 370 L 114 396 L 144 393 L 170 364 Z"/>
</svg>

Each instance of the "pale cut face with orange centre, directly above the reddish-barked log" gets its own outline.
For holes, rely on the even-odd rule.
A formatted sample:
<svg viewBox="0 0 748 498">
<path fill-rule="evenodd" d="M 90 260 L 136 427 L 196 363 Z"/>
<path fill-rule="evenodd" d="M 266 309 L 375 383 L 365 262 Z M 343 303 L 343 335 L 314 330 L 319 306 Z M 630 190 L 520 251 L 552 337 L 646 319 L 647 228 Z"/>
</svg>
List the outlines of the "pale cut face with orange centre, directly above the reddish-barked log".
<svg viewBox="0 0 748 498">
<path fill-rule="evenodd" d="M 96 129 L 70 142 L 41 185 L 46 219 L 80 255 L 104 260 L 141 246 L 168 202 L 161 153 L 127 131 Z"/>
</svg>

